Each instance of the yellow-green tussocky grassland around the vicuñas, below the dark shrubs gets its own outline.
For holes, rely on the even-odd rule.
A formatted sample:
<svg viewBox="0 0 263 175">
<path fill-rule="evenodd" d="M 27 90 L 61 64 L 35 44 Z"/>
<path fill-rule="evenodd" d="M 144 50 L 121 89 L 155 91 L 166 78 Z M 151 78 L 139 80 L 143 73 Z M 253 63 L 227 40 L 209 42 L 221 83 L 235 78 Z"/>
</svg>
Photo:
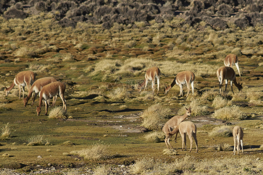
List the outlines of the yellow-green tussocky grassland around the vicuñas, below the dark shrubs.
<svg viewBox="0 0 263 175">
<path fill-rule="evenodd" d="M 66 169 L 72 167 L 80 168 L 74 170 L 76 174 L 102 170 L 104 174 L 262 173 L 262 24 L 240 28 L 229 20 L 228 28 L 215 30 L 205 21 L 196 25 L 185 21 L 173 17 L 163 23 L 114 23 L 105 29 L 86 22 L 61 27 L 50 12 L 25 19 L 0 16 L 0 127 L 10 133 L 1 137 L 1 167 L 24 164 L 17 171 L 27 173 L 50 166 L 61 170 L 54 174 L 74 173 Z M 229 53 L 239 58 L 242 81 L 239 75 L 237 81 L 243 83 L 243 90 L 233 85 L 232 93 L 229 83 L 227 92 L 220 94 L 216 71 Z M 151 94 L 150 83 L 138 94 L 137 82 L 152 66 L 161 70 L 159 95 L 156 90 Z M 48 116 L 42 107 L 37 116 L 39 98 L 24 107 L 17 86 L 5 97 L 4 86 L 9 87 L 24 70 L 34 71 L 37 79 L 53 76 L 66 84 L 64 117 L 48 118 L 56 107 L 49 108 Z M 184 86 L 179 97 L 177 85 L 165 95 L 165 84 L 184 70 L 195 74 L 194 95 L 186 98 Z M 187 120 L 197 126 L 198 153 L 189 152 L 188 138 L 188 150 L 180 151 L 178 137 L 177 143 L 171 141 L 176 153 L 164 154 L 164 134 L 154 136 L 159 138 L 155 142 L 144 131 L 161 131 L 170 117 L 183 115 L 189 105 L 192 116 Z M 62 106 L 60 98 L 56 106 Z M 144 125 L 157 112 L 162 114 L 157 115 L 157 123 Z M 231 134 L 220 137 L 215 132 L 229 123 L 230 130 L 235 125 L 243 128 L 240 155 L 232 155 Z M 100 156 L 87 156 L 97 151 Z"/>
</svg>

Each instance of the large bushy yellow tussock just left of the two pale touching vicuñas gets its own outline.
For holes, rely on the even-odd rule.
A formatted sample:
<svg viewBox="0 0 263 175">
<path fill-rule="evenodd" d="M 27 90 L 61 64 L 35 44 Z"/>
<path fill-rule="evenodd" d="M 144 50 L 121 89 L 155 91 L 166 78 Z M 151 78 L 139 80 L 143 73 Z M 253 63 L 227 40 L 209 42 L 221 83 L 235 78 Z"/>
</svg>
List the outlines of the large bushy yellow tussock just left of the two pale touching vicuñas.
<svg viewBox="0 0 263 175">
<path fill-rule="evenodd" d="M 141 118 L 143 118 L 142 126 L 147 129 L 157 130 L 161 129 L 161 119 L 167 118 L 171 110 L 163 107 L 161 104 L 154 104 L 146 109 Z"/>
</svg>

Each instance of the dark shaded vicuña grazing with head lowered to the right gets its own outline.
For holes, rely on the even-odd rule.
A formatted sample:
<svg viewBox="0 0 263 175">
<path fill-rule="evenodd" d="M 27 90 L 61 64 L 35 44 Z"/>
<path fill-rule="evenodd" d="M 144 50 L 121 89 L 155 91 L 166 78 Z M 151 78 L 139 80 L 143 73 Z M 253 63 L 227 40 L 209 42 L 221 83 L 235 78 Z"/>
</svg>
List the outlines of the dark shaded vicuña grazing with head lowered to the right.
<svg viewBox="0 0 263 175">
<path fill-rule="evenodd" d="M 234 82 L 235 86 L 238 88 L 239 91 L 243 88 L 242 87 L 242 83 L 239 84 L 239 83 L 236 82 L 235 71 L 234 71 L 234 69 L 232 67 L 227 67 L 227 66 L 219 67 L 217 69 L 217 78 L 218 78 L 218 81 L 219 81 L 219 91 L 220 91 L 220 93 L 222 91 L 221 87 L 223 85 L 224 79 L 226 79 L 226 89 L 225 89 L 225 91 L 227 90 L 228 80 L 230 80 L 230 85 L 231 85 L 232 92 L 233 92 L 232 82 Z"/>
</svg>

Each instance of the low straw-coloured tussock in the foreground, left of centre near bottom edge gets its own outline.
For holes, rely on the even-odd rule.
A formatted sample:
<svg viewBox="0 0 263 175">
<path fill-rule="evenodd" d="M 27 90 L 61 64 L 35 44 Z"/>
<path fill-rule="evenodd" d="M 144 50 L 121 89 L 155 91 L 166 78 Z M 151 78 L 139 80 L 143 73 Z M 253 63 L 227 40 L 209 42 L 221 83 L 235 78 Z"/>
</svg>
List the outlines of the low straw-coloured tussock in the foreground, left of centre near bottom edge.
<svg viewBox="0 0 263 175">
<path fill-rule="evenodd" d="M 107 158 L 107 146 L 103 144 L 94 144 L 91 148 L 80 151 L 71 151 L 70 154 L 79 155 L 86 160 L 103 160 Z"/>
</svg>

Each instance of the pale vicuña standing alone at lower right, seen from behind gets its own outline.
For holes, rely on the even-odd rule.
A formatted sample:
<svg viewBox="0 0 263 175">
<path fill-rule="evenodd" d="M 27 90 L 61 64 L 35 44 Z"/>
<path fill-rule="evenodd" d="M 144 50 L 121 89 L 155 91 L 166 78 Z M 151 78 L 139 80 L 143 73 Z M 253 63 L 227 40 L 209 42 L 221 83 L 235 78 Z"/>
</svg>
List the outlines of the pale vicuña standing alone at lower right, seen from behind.
<svg viewBox="0 0 263 175">
<path fill-rule="evenodd" d="M 241 129 L 240 126 L 235 126 L 233 128 L 233 137 L 234 137 L 234 151 L 233 154 L 235 155 L 235 150 L 237 150 L 237 154 L 239 154 L 239 150 L 240 150 L 240 145 L 242 148 L 242 152 L 243 152 L 243 130 Z"/>
</svg>

